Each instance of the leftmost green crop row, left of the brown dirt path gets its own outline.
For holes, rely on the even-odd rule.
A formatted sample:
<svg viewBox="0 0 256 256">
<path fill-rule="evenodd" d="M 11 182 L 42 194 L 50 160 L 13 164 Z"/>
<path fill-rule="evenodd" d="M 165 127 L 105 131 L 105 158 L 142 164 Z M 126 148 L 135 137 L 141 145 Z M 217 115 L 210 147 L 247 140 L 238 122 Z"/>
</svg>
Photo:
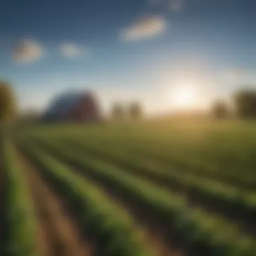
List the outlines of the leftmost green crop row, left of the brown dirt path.
<svg viewBox="0 0 256 256">
<path fill-rule="evenodd" d="M 36 218 L 25 175 L 18 165 L 18 153 L 10 141 L 4 142 L 3 168 L 3 256 L 38 255 Z"/>
</svg>

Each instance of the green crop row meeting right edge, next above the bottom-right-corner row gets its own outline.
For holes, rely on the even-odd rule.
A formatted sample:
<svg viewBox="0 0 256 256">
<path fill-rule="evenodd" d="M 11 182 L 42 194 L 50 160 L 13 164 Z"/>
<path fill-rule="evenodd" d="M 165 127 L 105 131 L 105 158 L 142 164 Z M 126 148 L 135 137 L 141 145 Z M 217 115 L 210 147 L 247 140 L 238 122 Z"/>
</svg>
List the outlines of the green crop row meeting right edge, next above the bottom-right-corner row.
<svg viewBox="0 0 256 256">
<path fill-rule="evenodd" d="M 251 223 L 256 221 L 256 193 L 246 193 L 220 181 L 199 177 L 192 173 L 187 174 L 173 169 L 166 170 L 162 166 L 150 166 L 148 160 L 121 149 L 111 148 L 109 150 L 102 144 L 89 143 L 88 145 L 88 142 L 78 139 L 69 142 L 71 146 L 79 148 L 85 154 L 91 153 L 100 156 L 100 158 L 110 160 L 110 162 L 129 168 L 129 170 L 134 170 L 136 173 L 183 189 L 190 197 L 197 197 L 202 202 L 217 205 L 237 218 L 243 218 Z"/>
</svg>

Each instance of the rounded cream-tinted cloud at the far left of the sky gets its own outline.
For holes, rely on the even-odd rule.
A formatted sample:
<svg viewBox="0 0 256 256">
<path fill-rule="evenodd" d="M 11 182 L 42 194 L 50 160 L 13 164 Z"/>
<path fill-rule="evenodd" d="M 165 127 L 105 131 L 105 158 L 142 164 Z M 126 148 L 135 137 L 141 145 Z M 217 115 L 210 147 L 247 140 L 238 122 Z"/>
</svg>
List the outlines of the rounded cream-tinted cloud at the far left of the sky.
<svg viewBox="0 0 256 256">
<path fill-rule="evenodd" d="M 21 63 L 34 62 L 42 57 L 42 46 L 34 40 L 22 40 L 13 51 L 13 59 Z"/>
</svg>

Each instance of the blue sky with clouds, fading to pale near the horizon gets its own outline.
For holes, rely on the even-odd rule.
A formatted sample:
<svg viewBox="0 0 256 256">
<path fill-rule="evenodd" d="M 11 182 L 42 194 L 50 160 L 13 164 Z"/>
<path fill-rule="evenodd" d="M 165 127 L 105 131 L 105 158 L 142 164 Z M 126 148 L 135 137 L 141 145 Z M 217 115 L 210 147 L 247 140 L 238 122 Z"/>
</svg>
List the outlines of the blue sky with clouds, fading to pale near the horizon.
<svg viewBox="0 0 256 256">
<path fill-rule="evenodd" d="M 9 0 L 1 3 L 0 74 L 22 108 L 91 88 L 108 108 L 139 99 L 168 110 L 192 84 L 205 105 L 255 84 L 253 0 Z"/>
</svg>

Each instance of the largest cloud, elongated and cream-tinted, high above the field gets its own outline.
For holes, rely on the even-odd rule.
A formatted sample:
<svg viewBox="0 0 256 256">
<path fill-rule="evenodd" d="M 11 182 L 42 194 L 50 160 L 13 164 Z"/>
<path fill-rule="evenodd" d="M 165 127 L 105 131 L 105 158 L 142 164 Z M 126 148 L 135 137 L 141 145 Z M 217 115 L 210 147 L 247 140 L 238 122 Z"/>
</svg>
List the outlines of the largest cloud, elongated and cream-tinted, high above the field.
<svg viewBox="0 0 256 256">
<path fill-rule="evenodd" d="M 121 38 L 126 41 L 146 40 L 159 36 L 166 29 L 166 20 L 158 16 L 141 18 L 125 28 Z"/>
</svg>

